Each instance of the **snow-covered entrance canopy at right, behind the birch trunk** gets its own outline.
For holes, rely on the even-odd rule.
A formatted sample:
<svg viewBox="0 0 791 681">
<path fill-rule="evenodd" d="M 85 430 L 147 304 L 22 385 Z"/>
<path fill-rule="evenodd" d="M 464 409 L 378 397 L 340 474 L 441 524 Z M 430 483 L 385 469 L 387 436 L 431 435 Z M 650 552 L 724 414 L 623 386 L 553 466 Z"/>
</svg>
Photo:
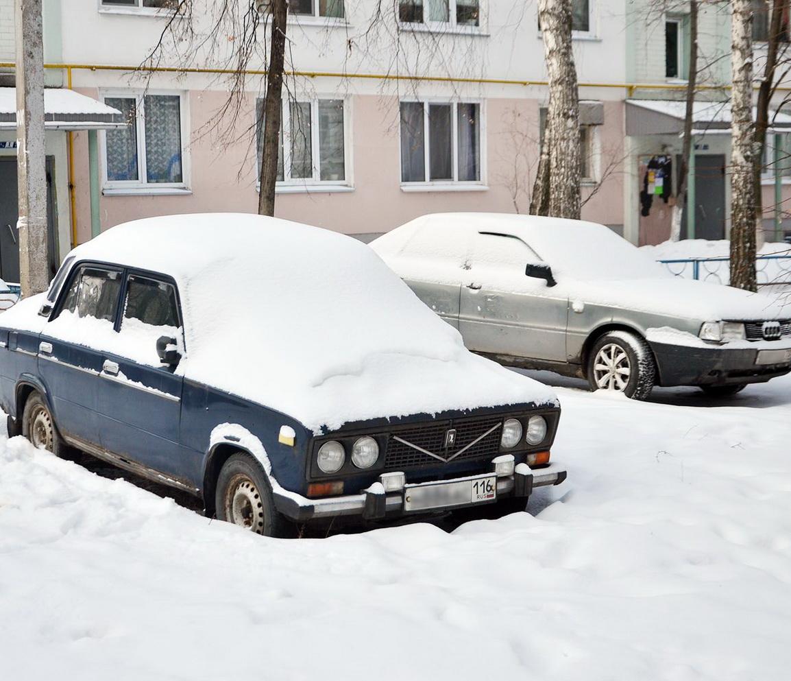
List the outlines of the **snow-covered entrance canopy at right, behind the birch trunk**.
<svg viewBox="0 0 791 681">
<path fill-rule="evenodd" d="M 684 129 L 687 102 L 627 99 L 626 135 L 679 135 Z M 753 108 L 755 120 L 755 108 Z M 791 116 L 769 112 L 769 132 L 791 132 Z M 729 101 L 696 101 L 692 106 L 692 130 L 697 135 L 726 133 L 731 129 Z"/>
</svg>

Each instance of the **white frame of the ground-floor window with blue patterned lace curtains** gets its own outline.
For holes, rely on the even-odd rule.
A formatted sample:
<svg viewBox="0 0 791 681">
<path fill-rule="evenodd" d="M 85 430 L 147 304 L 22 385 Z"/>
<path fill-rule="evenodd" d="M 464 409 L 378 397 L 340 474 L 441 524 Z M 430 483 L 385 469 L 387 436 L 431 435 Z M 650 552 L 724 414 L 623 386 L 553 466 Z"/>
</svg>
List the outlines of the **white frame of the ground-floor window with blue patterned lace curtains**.
<svg viewBox="0 0 791 681">
<path fill-rule="evenodd" d="M 143 99 L 146 95 L 178 96 L 181 133 L 181 179 L 180 182 L 149 182 L 146 181 L 146 120 Z M 122 97 L 135 100 L 135 125 L 138 143 L 138 179 L 108 180 L 107 177 L 107 131 L 100 131 L 99 155 L 102 168 L 102 193 L 105 196 L 123 194 L 184 194 L 190 190 L 190 131 L 189 131 L 189 97 L 184 90 L 142 90 L 142 89 L 102 89 L 100 101 Z"/>
</svg>

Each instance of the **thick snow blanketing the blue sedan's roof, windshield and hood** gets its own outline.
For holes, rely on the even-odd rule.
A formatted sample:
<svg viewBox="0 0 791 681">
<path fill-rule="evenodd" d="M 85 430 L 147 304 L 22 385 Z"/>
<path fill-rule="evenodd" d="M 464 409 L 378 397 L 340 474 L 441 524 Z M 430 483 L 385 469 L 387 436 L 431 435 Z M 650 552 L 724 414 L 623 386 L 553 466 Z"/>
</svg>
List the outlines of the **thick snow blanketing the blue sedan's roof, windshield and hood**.
<svg viewBox="0 0 791 681">
<path fill-rule="evenodd" d="M 115 226 L 73 254 L 172 276 L 184 313 L 178 373 L 314 431 L 557 401 L 472 355 L 366 245 L 328 230 L 258 215 L 168 216 Z M 36 330 L 39 305 L 4 313 L 4 325 Z"/>
</svg>

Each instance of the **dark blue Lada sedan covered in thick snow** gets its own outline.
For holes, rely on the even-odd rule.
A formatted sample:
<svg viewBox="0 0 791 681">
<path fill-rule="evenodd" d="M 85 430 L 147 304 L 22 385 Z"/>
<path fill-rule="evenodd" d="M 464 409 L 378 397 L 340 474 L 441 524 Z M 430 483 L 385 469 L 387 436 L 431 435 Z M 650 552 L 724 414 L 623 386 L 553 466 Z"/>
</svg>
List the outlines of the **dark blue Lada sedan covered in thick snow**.
<svg viewBox="0 0 791 681">
<path fill-rule="evenodd" d="M 76 447 L 263 535 L 524 508 L 551 390 L 464 348 L 367 246 L 257 215 L 115 226 L 0 316 L 9 435 Z"/>
</svg>

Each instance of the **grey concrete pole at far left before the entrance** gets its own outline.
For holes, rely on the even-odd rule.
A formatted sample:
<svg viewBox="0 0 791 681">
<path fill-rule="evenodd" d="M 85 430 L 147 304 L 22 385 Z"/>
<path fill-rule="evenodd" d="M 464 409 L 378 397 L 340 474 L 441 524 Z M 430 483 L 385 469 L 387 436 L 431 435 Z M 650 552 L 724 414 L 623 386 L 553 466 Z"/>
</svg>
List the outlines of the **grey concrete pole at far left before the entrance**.
<svg viewBox="0 0 791 681">
<path fill-rule="evenodd" d="M 41 0 L 16 0 L 17 177 L 22 296 L 46 291 L 47 169 Z"/>
</svg>

